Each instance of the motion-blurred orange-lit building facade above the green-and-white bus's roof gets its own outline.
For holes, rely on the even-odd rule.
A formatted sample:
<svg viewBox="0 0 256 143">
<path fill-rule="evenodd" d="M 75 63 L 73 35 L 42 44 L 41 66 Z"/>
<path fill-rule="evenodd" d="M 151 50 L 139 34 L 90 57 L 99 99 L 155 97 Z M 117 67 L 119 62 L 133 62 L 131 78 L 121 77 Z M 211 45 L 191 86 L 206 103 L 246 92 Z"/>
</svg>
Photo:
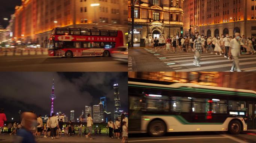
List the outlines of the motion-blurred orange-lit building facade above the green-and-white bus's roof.
<svg viewBox="0 0 256 143">
<path fill-rule="evenodd" d="M 129 72 L 128 77 L 165 82 L 195 83 L 198 85 L 255 90 L 253 72 Z"/>
</svg>

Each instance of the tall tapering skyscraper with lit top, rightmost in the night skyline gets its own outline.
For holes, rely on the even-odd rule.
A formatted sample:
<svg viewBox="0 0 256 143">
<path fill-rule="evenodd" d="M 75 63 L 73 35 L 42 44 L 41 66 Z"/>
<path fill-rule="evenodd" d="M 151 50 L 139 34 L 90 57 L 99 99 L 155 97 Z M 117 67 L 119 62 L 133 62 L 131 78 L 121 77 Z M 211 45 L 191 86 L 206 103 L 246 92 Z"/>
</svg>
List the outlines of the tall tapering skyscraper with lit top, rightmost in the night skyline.
<svg viewBox="0 0 256 143">
<path fill-rule="evenodd" d="M 120 97 L 119 97 L 119 86 L 118 83 L 115 82 L 114 83 L 114 101 L 115 101 L 115 112 L 114 112 L 114 119 L 116 119 L 117 117 L 121 116 L 121 112 L 120 112 Z"/>
</svg>

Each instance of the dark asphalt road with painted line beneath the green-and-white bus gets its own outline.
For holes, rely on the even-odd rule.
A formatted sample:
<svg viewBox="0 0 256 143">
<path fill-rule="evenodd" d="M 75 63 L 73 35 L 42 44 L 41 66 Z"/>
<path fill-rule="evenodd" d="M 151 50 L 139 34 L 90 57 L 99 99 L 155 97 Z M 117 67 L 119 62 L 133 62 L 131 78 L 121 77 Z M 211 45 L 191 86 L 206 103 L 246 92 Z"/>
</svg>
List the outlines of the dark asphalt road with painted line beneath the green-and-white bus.
<svg viewBox="0 0 256 143">
<path fill-rule="evenodd" d="M 129 134 L 129 143 L 256 143 L 256 133 L 245 131 L 238 135 L 227 132 L 167 133 L 163 137 L 147 134 Z"/>
</svg>

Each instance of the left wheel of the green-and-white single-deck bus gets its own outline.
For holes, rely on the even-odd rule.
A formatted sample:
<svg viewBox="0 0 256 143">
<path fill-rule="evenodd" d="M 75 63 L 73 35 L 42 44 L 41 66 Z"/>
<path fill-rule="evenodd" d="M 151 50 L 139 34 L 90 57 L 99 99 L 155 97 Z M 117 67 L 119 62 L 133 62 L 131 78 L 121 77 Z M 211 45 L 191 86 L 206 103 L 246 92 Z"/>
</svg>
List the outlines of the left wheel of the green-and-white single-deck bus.
<svg viewBox="0 0 256 143">
<path fill-rule="evenodd" d="M 152 137 L 164 136 L 166 133 L 166 125 L 163 121 L 155 120 L 150 122 L 148 133 Z"/>
</svg>

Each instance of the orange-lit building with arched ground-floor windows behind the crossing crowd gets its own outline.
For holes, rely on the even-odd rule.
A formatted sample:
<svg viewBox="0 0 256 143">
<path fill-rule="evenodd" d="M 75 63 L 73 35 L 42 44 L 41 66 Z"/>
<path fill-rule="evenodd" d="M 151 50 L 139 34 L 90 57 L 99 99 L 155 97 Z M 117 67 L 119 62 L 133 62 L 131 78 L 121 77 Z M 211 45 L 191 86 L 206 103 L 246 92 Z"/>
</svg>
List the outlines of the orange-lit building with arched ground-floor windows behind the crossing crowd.
<svg viewBox="0 0 256 143">
<path fill-rule="evenodd" d="M 256 36 L 255 6 L 255 0 L 185 0 L 184 32 L 188 35 L 191 25 L 191 35 Z"/>
</svg>

